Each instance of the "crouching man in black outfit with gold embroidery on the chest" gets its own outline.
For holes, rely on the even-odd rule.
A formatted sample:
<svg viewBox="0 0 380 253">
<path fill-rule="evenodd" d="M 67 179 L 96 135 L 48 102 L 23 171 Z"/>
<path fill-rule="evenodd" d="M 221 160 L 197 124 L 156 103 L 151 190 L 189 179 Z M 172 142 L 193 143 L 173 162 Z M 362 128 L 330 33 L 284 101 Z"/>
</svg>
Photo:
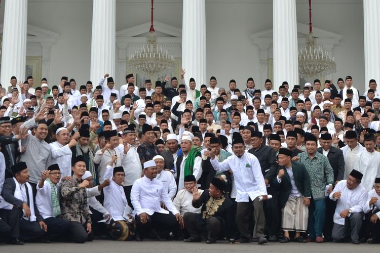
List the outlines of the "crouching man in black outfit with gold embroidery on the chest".
<svg viewBox="0 0 380 253">
<path fill-rule="evenodd" d="M 199 242 L 201 237 L 207 234 L 206 243 L 215 243 L 224 230 L 227 238 L 232 238 L 233 203 L 224 195 L 226 184 L 218 179 L 212 178 L 210 187 L 202 195 L 197 187 L 193 190 L 193 206 L 202 206 L 201 214 L 186 212 L 183 221 L 190 237 L 185 242 Z"/>
</svg>

